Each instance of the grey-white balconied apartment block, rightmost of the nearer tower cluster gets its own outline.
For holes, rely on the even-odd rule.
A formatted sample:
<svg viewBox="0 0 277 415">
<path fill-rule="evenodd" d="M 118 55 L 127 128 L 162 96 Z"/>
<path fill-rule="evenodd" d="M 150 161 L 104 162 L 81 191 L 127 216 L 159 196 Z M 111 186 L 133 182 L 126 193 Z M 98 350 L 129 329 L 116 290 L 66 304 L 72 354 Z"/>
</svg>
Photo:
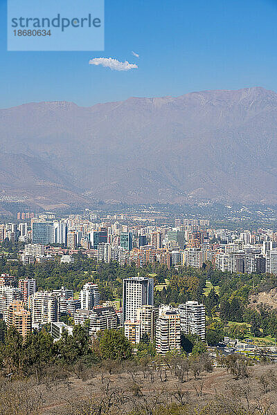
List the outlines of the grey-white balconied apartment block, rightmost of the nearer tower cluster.
<svg viewBox="0 0 277 415">
<path fill-rule="evenodd" d="M 197 334 L 205 340 L 205 306 L 197 301 L 187 301 L 179 305 L 181 331 L 186 334 Z"/>
</svg>

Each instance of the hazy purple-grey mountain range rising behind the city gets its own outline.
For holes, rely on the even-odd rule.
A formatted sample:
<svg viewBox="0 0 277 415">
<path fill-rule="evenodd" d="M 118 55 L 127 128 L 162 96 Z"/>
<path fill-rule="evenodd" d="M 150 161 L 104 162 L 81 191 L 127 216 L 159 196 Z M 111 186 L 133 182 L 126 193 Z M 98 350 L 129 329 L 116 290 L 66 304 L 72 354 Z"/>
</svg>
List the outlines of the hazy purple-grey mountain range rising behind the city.
<svg viewBox="0 0 277 415">
<path fill-rule="evenodd" d="M 0 151 L 43 160 L 42 168 L 26 162 L 22 184 L 21 169 L 1 163 L 0 182 L 21 183 L 28 193 L 31 183 L 51 181 L 128 202 L 276 203 L 276 137 L 277 94 L 262 88 L 129 98 L 90 108 L 25 104 L 0 110 Z"/>
</svg>

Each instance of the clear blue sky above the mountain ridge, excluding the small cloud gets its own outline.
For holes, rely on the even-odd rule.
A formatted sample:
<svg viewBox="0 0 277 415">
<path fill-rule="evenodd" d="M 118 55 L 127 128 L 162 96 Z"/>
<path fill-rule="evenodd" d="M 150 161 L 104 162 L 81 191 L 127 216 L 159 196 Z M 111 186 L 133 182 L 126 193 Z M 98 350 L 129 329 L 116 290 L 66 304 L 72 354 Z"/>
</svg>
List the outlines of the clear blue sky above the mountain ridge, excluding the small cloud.
<svg viewBox="0 0 277 415">
<path fill-rule="evenodd" d="M 277 0 L 106 0 L 100 53 L 7 52 L 5 0 L 0 28 L 1 108 L 57 100 L 87 107 L 249 86 L 277 91 Z M 95 57 L 139 68 L 89 65 Z"/>
</svg>

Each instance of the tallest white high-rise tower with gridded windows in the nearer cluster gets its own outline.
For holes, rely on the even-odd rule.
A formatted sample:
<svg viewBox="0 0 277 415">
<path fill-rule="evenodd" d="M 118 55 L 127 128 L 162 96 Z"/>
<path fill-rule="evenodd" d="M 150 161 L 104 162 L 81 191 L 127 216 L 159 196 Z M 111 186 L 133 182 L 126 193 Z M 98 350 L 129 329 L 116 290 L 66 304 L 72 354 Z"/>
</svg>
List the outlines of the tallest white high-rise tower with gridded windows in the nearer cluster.
<svg viewBox="0 0 277 415">
<path fill-rule="evenodd" d="M 148 277 L 123 279 L 123 322 L 134 322 L 138 308 L 143 305 L 154 305 L 154 280 Z"/>
</svg>

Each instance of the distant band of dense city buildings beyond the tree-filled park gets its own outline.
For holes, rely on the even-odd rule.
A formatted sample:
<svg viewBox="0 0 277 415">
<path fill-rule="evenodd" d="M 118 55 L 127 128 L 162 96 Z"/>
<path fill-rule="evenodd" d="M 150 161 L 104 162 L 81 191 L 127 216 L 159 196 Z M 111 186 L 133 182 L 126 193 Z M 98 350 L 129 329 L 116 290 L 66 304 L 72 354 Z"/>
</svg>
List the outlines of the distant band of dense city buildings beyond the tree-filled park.
<svg viewBox="0 0 277 415">
<path fill-rule="evenodd" d="M 154 225 L 145 216 L 134 217 L 132 223 L 125 214 L 71 214 L 55 219 L 51 212 L 23 212 L 17 216 L 19 223 L 0 224 L 0 242 L 25 242 L 21 251 L 24 265 L 54 261 L 55 257 L 70 265 L 73 254 L 81 250 L 99 262 L 117 261 L 137 268 L 155 261 L 168 268 L 202 268 L 211 262 L 223 272 L 277 274 L 277 232 L 273 230 L 217 229 L 208 219 L 187 218 L 175 219 L 172 225 Z"/>
</svg>

